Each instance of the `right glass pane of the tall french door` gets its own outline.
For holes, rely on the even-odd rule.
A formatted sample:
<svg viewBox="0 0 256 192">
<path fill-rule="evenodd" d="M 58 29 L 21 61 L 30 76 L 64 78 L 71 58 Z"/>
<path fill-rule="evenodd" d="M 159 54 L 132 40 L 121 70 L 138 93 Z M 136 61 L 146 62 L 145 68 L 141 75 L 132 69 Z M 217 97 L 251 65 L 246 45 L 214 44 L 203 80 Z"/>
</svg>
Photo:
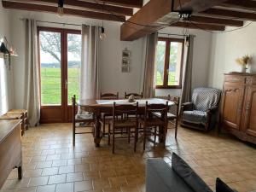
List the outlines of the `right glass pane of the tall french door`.
<svg viewBox="0 0 256 192">
<path fill-rule="evenodd" d="M 72 104 L 72 96 L 79 99 L 79 81 L 81 67 L 81 35 L 67 34 L 67 101 Z"/>
</svg>

